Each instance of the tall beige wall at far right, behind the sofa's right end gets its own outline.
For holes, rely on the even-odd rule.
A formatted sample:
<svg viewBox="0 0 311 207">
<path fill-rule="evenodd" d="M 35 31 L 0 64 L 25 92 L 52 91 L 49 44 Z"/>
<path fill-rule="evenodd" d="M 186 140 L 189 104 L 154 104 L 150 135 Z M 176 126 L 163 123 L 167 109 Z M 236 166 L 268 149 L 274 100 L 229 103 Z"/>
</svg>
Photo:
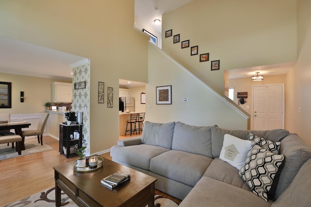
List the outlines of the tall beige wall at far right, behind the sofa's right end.
<svg viewBox="0 0 311 207">
<path fill-rule="evenodd" d="M 297 63 L 287 75 L 285 128 L 311 144 L 311 1 L 297 0 Z M 301 112 L 298 112 L 298 108 Z"/>
</svg>

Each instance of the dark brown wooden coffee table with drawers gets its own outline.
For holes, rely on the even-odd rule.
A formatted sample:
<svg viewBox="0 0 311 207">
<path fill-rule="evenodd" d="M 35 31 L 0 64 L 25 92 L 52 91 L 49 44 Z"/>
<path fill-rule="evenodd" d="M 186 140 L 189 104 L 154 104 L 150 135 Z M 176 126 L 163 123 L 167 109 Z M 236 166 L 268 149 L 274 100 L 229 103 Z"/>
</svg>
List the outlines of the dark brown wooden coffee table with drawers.
<svg viewBox="0 0 311 207">
<path fill-rule="evenodd" d="M 99 170 L 88 173 L 73 171 L 73 162 L 55 166 L 55 204 L 61 206 L 61 190 L 78 206 L 154 207 L 156 178 L 104 158 Z M 113 190 L 100 180 L 117 171 L 129 173 L 131 179 Z"/>
</svg>

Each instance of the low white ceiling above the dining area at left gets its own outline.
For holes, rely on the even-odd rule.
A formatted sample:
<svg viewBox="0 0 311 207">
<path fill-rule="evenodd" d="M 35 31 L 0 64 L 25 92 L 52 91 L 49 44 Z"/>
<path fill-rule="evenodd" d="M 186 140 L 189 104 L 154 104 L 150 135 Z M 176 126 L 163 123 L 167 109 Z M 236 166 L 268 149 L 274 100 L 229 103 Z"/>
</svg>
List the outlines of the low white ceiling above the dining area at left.
<svg viewBox="0 0 311 207">
<path fill-rule="evenodd" d="M 50 48 L 0 36 L 0 72 L 72 80 L 71 64 L 85 60 Z"/>
</svg>

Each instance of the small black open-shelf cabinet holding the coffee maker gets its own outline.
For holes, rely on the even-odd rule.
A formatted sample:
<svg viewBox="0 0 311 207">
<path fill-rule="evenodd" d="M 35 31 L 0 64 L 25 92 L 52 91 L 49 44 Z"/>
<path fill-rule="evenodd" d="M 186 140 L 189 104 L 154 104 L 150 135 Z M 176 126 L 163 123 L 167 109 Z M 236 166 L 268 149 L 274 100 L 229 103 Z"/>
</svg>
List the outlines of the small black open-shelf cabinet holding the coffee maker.
<svg viewBox="0 0 311 207">
<path fill-rule="evenodd" d="M 79 139 L 70 139 L 70 135 L 73 137 L 74 132 L 79 133 Z M 75 152 L 70 153 L 71 148 L 81 148 L 82 147 L 82 140 L 83 140 L 83 124 L 77 125 L 65 125 L 59 124 L 59 153 L 64 154 L 67 158 L 71 155 L 76 155 Z M 64 151 L 64 147 L 66 151 Z M 74 151 L 74 150 L 73 150 Z"/>
</svg>

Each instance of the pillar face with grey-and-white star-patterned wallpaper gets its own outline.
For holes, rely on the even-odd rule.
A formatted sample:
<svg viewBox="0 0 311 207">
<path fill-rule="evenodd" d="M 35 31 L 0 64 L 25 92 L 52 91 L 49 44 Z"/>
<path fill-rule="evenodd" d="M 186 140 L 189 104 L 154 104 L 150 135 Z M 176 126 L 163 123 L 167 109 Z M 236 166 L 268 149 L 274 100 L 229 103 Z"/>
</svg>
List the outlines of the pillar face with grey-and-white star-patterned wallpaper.
<svg viewBox="0 0 311 207">
<path fill-rule="evenodd" d="M 89 146 L 89 100 L 90 100 L 90 65 L 89 63 L 74 67 L 72 76 L 72 111 L 83 112 L 84 146 Z M 86 81 L 86 88 L 74 89 L 74 83 Z M 86 109 L 86 110 L 85 110 Z M 77 114 L 76 114 L 77 115 Z M 90 148 L 86 148 L 86 155 L 90 155 Z"/>
</svg>

